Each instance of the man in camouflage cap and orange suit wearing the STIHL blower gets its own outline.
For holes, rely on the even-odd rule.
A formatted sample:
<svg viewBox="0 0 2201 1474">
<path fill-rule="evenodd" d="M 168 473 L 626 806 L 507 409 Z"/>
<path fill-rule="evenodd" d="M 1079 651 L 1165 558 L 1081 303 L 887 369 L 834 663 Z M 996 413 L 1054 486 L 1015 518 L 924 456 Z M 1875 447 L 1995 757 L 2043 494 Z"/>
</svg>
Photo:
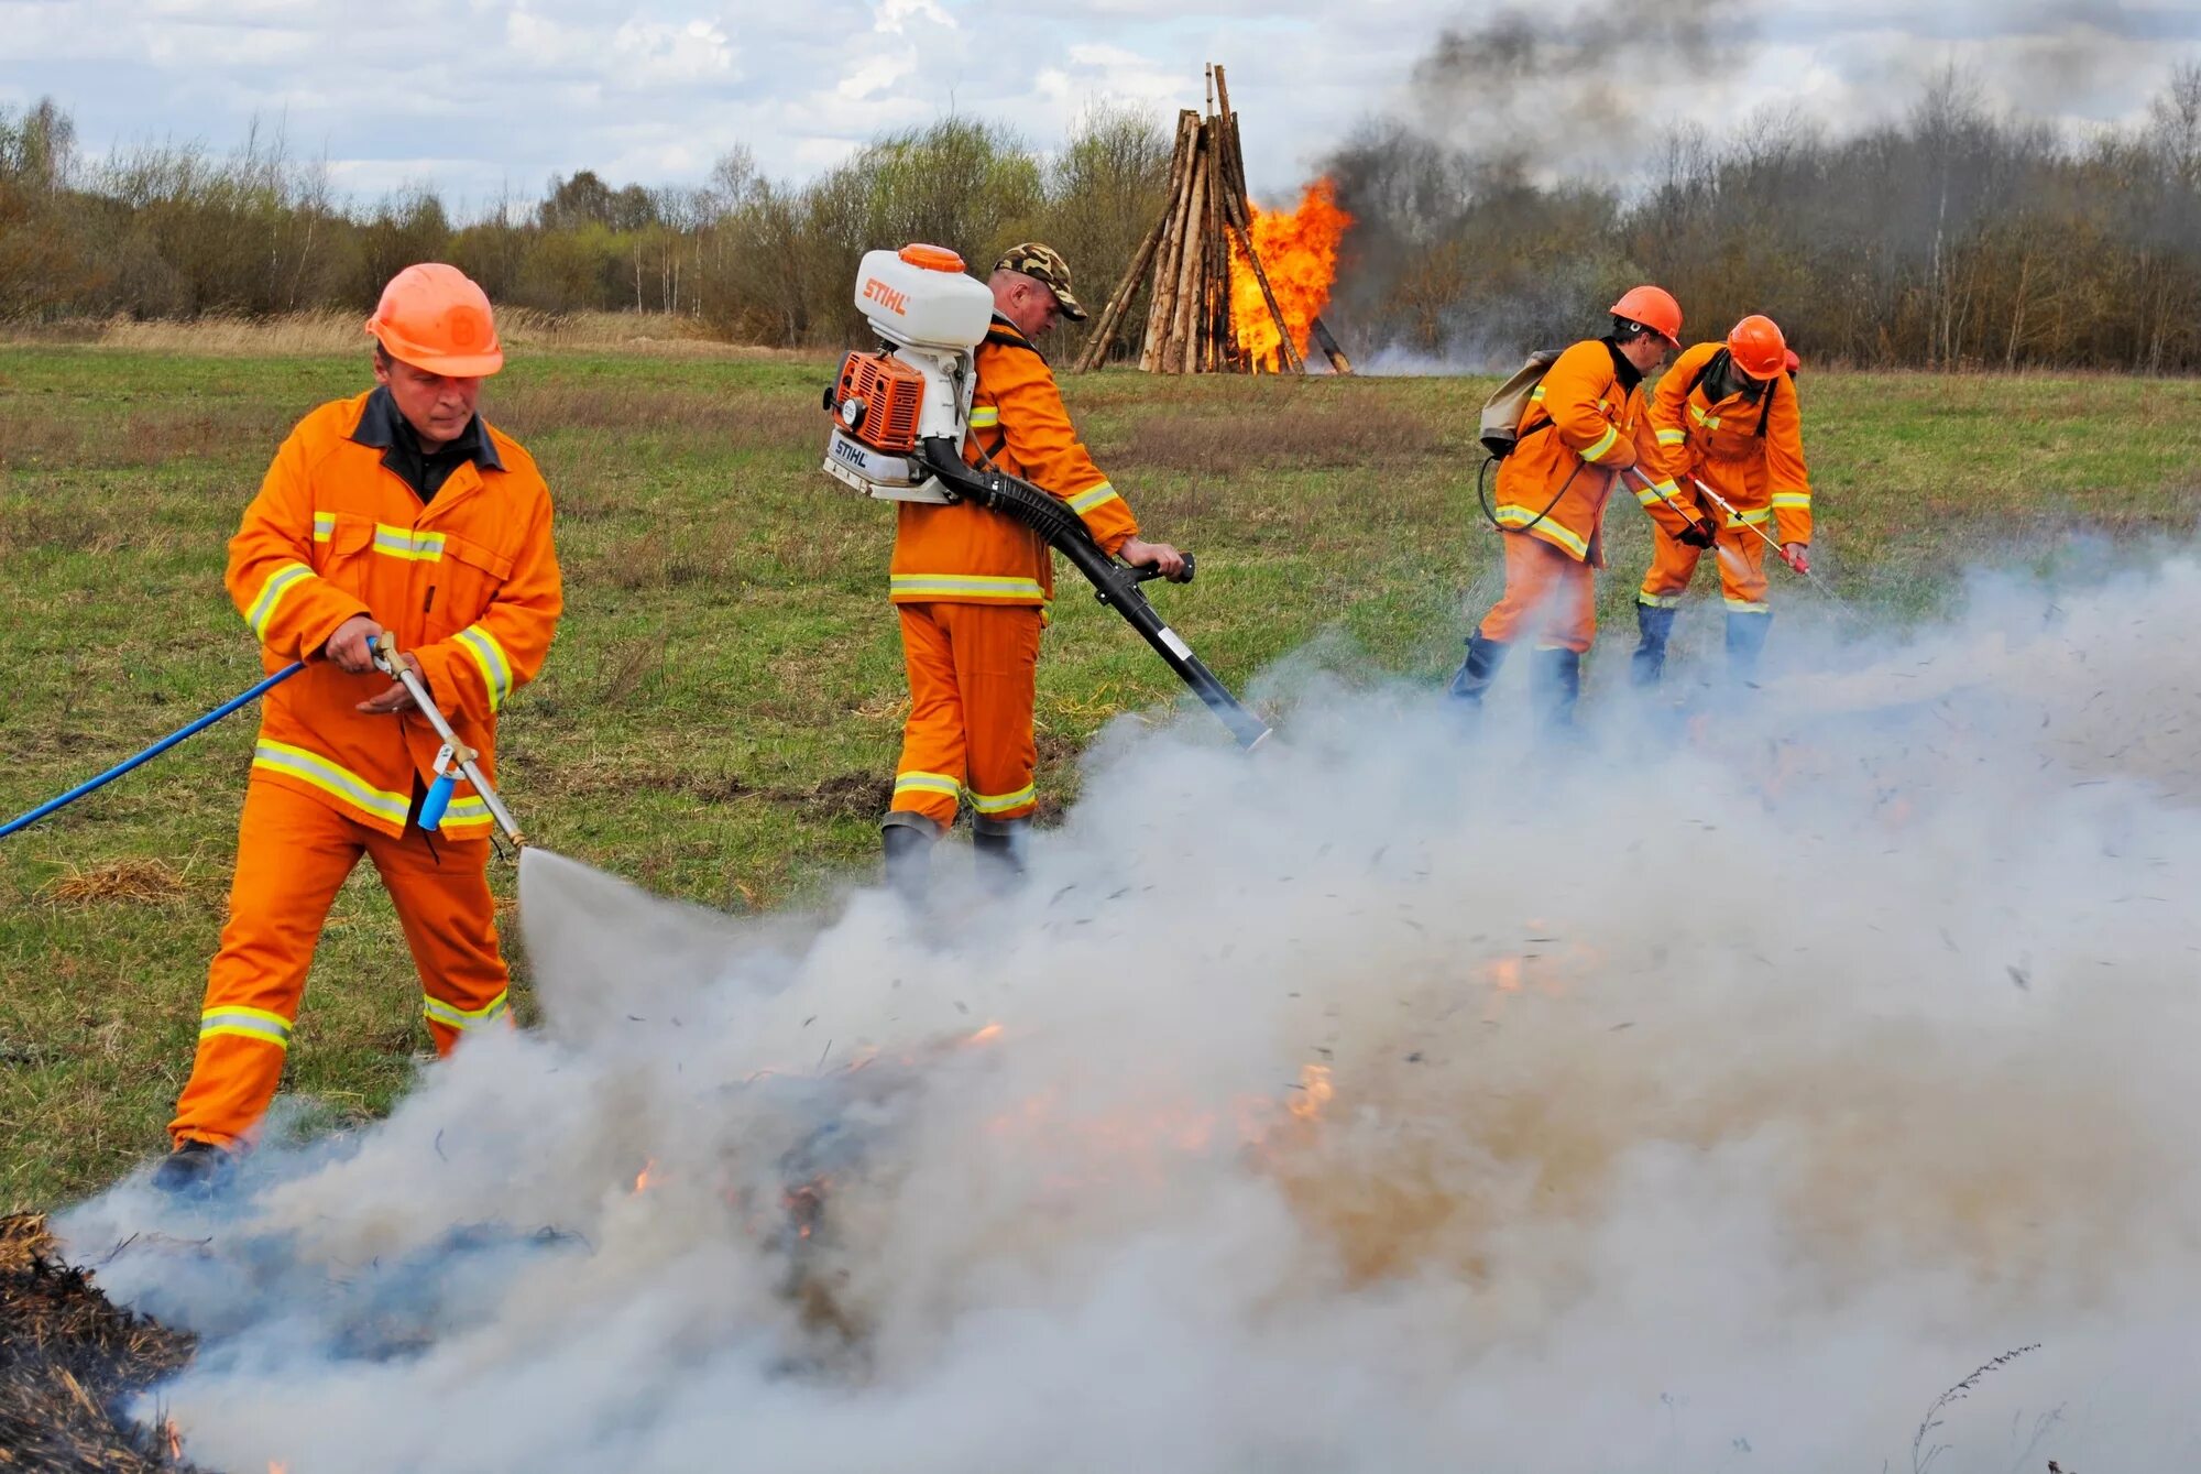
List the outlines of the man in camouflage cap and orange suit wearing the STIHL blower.
<svg viewBox="0 0 2201 1474">
<path fill-rule="evenodd" d="M 1034 339 L 1063 317 L 1085 319 L 1070 266 L 1043 244 L 1012 246 L 993 268 L 993 328 L 977 348 L 977 392 L 964 460 L 990 464 L 1070 504 L 1103 550 L 1182 579 L 1184 554 L 1138 537 L 1070 425 Z M 1037 805 L 1032 684 L 1039 631 L 1054 594 L 1045 539 L 973 502 L 902 502 L 889 596 L 902 623 L 909 724 L 880 825 L 887 880 L 922 889 L 933 840 L 971 805 L 971 838 L 995 880 L 1023 869 Z"/>
</svg>

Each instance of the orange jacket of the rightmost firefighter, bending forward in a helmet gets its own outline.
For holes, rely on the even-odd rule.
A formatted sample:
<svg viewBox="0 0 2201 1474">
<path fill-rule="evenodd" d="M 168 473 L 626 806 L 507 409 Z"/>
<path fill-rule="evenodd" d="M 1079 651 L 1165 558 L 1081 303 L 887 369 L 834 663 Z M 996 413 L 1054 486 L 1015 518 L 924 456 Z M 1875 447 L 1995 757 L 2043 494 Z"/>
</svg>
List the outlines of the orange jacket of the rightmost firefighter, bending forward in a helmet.
<svg viewBox="0 0 2201 1474">
<path fill-rule="evenodd" d="M 1730 528 L 1763 528 L 1772 521 L 1774 541 L 1809 543 L 1811 475 L 1803 462 L 1796 381 L 1781 374 L 1756 396 L 1728 394 L 1712 400 L 1721 354 L 1721 343 L 1697 343 L 1660 378 L 1644 433 L 1638 436 L 1642 471 L 1690 517 L 1715 515 Z M 1737 517 L 1719 513 L 1690 477 L 1726 497 Z M 1653 491 L 1635 486 L 1635 499 L 1662 528 L 1682 530 L 1682 515 Z"/>
</svg>

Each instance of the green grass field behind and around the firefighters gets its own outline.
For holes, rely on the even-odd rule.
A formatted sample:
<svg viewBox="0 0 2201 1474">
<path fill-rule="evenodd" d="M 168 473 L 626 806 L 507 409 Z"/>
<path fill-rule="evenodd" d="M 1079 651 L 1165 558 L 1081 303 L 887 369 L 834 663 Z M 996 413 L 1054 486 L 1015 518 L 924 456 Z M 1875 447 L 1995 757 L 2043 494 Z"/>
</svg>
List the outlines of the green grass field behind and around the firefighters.
<svg viewBox="0 0 2201 1474">
<path fill-rule="evenodd" d="M 504 788 L 530 836 L 671 895 L 768 909 L 876 849 L 902 717 L 885 603 L 891 513 L 825 480 L 828 363 L 517 354 L 484 409 L 544 464 L 568 614 L 506 708 Z M 0 348 L 0 821 L 258 675 L 222 554 L 277 440 L 365 385 L 357 356 Z M 1893 623 L 1970 563 L 2071 535 L 2188 537 L 2201 383 L 1811 374 L 1818 561 Z M 1323 638 L 1349 680 L 1435 684 L 1497 594 L 1475 510 L 1488 381 L 1067 385 L 1149 537 L 1193 548 L 1156 603 L 1226 682 Z M 1633 642 L 1646 519 L 1616 504 L 1611 660 Z M 1164 715 L 1169 671 L 1061 581 L 1039 680 L 1041 790 L 1114 713 Z M 1785 574 L 1778 601 L 1807 603 Z M 1693 620 L 1717 638 L 1715 620 Z M 1677 662 L 1693 658 L 1690 625 Z M 1778 634 L 1776 634 L 1778 640 Z M 1193 715 L 1189 719 L 1204 719 Z M 194 739 L 0 840 L 0 1210 L 51 1208 L 163 1146 L 222 922 L 253 719 Z M 508 893 L 511 873 L 500 871 Z M 286 1089 L 383 1111 L 425 1047 L 372 869 L 339 898 Z"/>
</svg>

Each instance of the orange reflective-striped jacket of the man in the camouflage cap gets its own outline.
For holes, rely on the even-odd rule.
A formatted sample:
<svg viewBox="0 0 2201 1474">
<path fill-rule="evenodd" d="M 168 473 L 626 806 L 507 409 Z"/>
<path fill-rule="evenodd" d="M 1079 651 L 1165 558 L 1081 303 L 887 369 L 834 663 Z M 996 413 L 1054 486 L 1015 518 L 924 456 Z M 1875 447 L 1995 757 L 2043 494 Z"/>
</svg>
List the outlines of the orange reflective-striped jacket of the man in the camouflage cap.
<svg viewBox="0 0 2201 1474">
<path fill-rule="evenodd" d="M 1072 429 L 1054 372 L 1032 341 L 995 315 L 975 367 L 964 460 L 990 462 L 1054 493 L 1085 519 L 1105 552 L 1136 537 L 1138 519 Z M 902 502 L 889 572 L 898 605 L 1045 605 L 1054 596 L 1048 541 L 1015 517 L 973 502 Z"/>
</svg>

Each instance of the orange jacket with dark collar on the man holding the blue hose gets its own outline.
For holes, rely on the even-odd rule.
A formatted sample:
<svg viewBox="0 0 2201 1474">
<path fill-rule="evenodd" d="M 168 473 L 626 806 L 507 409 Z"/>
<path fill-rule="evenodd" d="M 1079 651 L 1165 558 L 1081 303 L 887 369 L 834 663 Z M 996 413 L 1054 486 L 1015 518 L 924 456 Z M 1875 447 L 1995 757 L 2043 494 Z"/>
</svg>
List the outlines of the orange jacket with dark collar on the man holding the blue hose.
<svg viewBox="0 0 2201 1474">
<path fill-rule="evenodd" d="M 346 675 L 324 656 L 328 636 L 374 616 L 420 660 L 429 695 L 495 781 L 497 706 L 535 680 L 563 596 L 550 491 L 528 453 L 489 429 L 484 464 L 460 462 L 423 506 L 383 447 L 354 440 L 368 400 L 297 422 L 229 539 L 227 583 L 262 669 L 306 662 L 266 695 L 253 779 L 401 836 L 440 739 L 418 713 L 354 711 L 387 682 Z M 491 823 L 462 781 L 445 829 L 480 838 Z"/>
</svg>

